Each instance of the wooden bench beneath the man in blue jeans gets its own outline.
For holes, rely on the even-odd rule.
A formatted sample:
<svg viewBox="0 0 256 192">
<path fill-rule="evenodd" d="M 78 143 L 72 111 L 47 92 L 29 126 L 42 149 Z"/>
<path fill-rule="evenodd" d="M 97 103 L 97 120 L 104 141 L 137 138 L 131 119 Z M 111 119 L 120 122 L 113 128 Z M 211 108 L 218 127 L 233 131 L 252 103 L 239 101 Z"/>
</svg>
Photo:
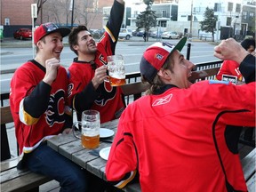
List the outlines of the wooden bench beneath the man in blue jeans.
<svg viewBox="0 0 256 192">
<path fill-rule="evenodd" d="M 10 106 L 1 107 L 1 137 L 2 133 L 6 129 L 2 129 L 2 125 L 12 123 L 12 114 Z M 5 128 L 5 127 L 4 127 Z M 1 154 L 3 150 L 1 140 Z M 9 148 L 9 146 L 8 146 Z M 45 177 L 44 175 L 30 172 L 28 170 L 18 170 L 17 164 L 20 161 L 20 156 L 12 157 L 1 161 L 1 191 L 39 191 L 39 186 L 52 179 Z"/>
</svg>

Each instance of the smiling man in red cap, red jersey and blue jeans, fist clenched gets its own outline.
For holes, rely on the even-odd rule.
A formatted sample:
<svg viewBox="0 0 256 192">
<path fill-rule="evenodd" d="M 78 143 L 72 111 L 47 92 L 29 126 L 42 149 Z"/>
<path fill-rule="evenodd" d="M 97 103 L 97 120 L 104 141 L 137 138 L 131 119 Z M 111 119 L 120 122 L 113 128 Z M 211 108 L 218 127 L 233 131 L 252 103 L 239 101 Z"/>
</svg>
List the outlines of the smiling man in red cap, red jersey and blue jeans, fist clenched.
<svg viewBox="0 0 256 192">
<path fill-rule="evenodd" d="M 22 156 L 18 168 L 59 181 L 61 191 L 84 192 L 88 185 L 85 172 L 46 144 L 52 136 L 68 133 L 72 125 L 68 76 L 60 65 L 62 39 L 69 32 L 51 22 L 36 28 L 36 57 L 15 71 L 10 106 Z"/>
</svg>

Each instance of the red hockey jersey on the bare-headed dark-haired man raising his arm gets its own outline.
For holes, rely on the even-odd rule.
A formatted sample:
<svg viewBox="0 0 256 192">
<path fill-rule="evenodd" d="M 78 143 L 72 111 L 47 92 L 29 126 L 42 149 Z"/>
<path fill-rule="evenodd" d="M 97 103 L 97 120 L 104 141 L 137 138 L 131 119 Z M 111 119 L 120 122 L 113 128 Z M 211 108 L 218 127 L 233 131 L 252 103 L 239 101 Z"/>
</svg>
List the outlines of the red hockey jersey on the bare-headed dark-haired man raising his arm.
<svg viewBox="0 0 256 192">
<path fill-rule="evenodd" d="M 112 6 L 106 31 L 97 43 L 97 53 L 93 62 L 99 68 L 107 65 L 107 56 L 115 54 L 116 43 L 119 30 L 123 22 L 124 4 L 114 1 Z M 122 16 L 122 17 L 121 17 Z M 95 109 L 100 111 L 100 123 L 119 118 L 124 110 L 124 98 L 120 87 L 112 87 L 108 82 L 99 85 L 95 91 L 92 86 L 94 69 L 91 63 L 74 59 L 68 68 L 68 101 L 76 109 L 77 119 L 86 109 Z M 79 105 L 76 104 L 76 94 L 84 92 L 83 98 L 80 97 Z M 83 100 L 83 104 L 81 104 Z"/>
</svg>

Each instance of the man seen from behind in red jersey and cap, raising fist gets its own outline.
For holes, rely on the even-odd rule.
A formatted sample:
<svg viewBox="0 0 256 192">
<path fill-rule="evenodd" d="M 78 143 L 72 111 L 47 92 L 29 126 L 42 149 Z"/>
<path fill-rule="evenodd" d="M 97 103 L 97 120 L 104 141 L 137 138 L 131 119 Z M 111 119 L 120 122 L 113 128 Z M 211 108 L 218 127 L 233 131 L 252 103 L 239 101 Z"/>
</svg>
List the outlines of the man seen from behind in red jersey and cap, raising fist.
<svg viewBox="0 0 256 192">
<path fill-rule="evenodd" d="M 255 124 L 255 57 L 234 39 L 223 41 L 215 55 L 236 60 L 246 84 L 190 84 L 194 64 L 180 54 L 185 43 L 186 37 L 176 45 L 159 42 L 144 52 L 140 73 L 148 95 L 120 117 L 107 180 L 123 188 L 139 172 L 141 191 L 247 191 L 239 132 L 226 125 Z"/>
</svg>

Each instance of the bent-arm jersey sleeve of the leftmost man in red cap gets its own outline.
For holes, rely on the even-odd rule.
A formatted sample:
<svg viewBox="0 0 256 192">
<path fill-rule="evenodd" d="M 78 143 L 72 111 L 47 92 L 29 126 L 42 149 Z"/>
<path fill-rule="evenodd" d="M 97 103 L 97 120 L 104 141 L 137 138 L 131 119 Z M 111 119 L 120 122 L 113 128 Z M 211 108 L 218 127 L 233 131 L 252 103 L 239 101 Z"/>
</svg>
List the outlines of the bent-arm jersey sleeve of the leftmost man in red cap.
<svg viewBox="0 0 256 192">
<path fill-rule="evenodd" d="M 29 72 L 22 68 L 12 77 L 11 88 L 15 100 L 14 111 L 19 113 L 20 121 L 28 125 L 36 124 L 47 108 L 51 86 L 43 81 L 36 84 L 30 79 Z"/>
</svg>

